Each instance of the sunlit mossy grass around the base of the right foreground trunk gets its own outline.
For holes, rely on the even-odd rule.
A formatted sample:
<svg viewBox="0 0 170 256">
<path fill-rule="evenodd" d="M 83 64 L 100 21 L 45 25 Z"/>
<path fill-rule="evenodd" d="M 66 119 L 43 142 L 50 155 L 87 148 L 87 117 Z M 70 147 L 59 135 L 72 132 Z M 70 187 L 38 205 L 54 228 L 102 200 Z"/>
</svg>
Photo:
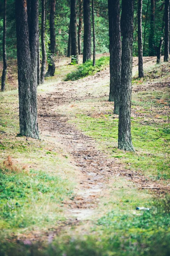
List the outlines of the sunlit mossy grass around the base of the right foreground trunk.
<svg viewBox="0 0 170 256">
<path fill-rule="evenodd" d="M 142 171 L 156 179 L 170 179 L 169 141 L 167 124 L 156 127 L 142 125 L 141 119 L 132 119 L 132 140 L 136 152 L 124 152 L 117 149 L 118 118 L 104 115 L 93 118 L 85 114 L 77 115 L 74 123 L 88 136 L 96 139 L 100 148 L 113 158 L 120 158 L 127 169 Z M 146 122 L 147 124 L 147 122 Z M 160 137 L 160 138 L 159 138 Z"/>
</svg>

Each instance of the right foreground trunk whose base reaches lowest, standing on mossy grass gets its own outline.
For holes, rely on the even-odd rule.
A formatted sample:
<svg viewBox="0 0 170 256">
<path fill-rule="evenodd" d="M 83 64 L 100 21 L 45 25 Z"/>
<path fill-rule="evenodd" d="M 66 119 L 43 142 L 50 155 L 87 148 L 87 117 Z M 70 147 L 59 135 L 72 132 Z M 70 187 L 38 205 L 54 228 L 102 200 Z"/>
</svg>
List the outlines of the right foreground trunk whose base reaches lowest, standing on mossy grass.
<svg viewBox="0 0 170 256">
<path fill-rule="evenodd" d="M 122 0 L 122 81 L 118 148 L 134 151 L 131 139 L 131 81 L 133 58 L 133 0 Z"/>
</svg>

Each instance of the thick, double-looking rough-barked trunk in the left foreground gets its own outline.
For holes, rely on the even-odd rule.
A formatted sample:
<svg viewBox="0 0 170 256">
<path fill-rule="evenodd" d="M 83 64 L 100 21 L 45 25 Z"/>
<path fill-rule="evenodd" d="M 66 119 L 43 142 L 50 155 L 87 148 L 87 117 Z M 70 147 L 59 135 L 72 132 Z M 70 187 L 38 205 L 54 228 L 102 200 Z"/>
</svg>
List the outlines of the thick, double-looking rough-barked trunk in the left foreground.
<svg viewBox="0 0 170 256">
<path fill-rule="evenodd" d="M 38 0 L 16 0 L 20 134 L 39 138 L 37 124 Z"/>
</svg>

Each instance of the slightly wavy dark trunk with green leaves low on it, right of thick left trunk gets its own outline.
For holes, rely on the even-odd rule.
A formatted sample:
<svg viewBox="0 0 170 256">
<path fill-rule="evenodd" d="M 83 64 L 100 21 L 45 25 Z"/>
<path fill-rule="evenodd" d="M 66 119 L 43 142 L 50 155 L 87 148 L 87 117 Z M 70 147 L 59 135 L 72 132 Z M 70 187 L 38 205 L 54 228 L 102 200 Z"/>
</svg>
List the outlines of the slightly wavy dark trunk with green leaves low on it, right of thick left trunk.
<svg viewBox="0 0 170 256">
<path fill-rule="evenodd" d="M 48 71 L 45 74 L 46 77 L 54 76 L 55 73 L 55 63 L 54 63 L 54 52 L 56 47 L 56 33 L 54 26 L 54 18 L 55 18 L 55 5 L 56 0 L 51 0 L 51 8 L 50 8 L 50 45 L 49 52 L 50 55 L 48 57 Z"/>
</svg>

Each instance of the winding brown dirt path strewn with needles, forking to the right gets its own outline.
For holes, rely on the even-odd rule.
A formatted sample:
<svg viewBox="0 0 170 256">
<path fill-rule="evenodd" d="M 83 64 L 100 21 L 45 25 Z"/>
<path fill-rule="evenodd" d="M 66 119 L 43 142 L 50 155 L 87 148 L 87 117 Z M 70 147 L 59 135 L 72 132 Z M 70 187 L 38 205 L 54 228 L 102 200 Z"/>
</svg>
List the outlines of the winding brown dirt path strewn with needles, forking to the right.
<svg viewBox="0 0 170 256">
<path fill-rule="evenodd" d="M 144 65 L 150 65 L 153 61 L 155 58 L 146 58 Z M 133 73 L 137 70 L 136 64 L 134 59 Z M 97 150 L 95 140 L 68 123 L 68 109 L 76 102 L 108 97 L 108 88 L 106 91 L 102 84 L 109 84 L 109 69 L 79 81 L 61 82 L 56 85 L 54 92 L 38 97 L 39 127 L 42 135 L 49 133 L 62 145 L 77 166 L 79 185 L 75 191 L 76 196 L 65 202 L 65 215 L 70 220 L 90 219 L 95 213 L 99 198 L 105 196 L 108 183 L 113 182 L 113 177 L 124 176 L 132 181 L 132 186 L 135 183 L 139 189 L 147 188 L 158 193 L 165 189 L 160 183 L 144 177 L 140 172 L 125 170 L 119 159 L 109 159 L 104 152 Z M 97 90 L 99 87 L 100 91 Z M 72 109 L 69 113 L 74 115 Z"/>
</svg>

